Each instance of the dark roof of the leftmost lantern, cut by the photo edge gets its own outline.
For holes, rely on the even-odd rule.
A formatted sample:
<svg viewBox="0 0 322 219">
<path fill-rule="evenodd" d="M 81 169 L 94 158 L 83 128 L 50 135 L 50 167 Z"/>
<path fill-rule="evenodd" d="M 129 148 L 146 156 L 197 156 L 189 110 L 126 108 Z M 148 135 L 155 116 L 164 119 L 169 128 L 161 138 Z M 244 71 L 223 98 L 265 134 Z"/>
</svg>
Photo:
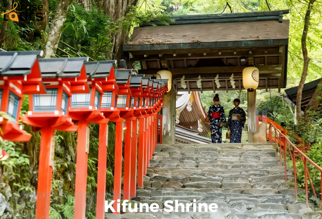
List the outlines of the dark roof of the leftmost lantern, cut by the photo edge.
<svg viewBox="0 0 322 219">
<path fill-rule="evenodd" d="M 25 76 L 43 51 L 11 51 L 0 52 L 0 76 Z"/>
</svg>

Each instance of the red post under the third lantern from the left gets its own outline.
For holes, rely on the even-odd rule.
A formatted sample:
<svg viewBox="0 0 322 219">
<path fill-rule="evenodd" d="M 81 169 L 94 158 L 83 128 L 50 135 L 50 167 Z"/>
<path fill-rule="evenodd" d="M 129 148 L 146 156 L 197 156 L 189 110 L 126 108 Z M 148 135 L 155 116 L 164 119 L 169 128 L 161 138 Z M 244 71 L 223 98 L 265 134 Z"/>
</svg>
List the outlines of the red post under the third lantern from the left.
<svg viewBox="0 0 322 219">
<path fill-rule="evenodd" d="M 77 153 L 76 153 L 76 183 L 75 183 L 75 213 L 74 218 L 85 219 L 87 163 L 89 144 L 89 123 L 86 120 L 78 122 Z"/>
</svg>

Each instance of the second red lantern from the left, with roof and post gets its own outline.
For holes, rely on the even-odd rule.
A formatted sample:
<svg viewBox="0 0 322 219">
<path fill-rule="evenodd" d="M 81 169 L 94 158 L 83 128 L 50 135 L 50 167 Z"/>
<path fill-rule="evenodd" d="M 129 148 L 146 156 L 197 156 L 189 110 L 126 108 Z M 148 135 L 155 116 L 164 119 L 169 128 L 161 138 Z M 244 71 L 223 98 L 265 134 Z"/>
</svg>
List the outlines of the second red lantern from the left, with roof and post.
<svg viewBox="0 0 322 219">
<path fill-rule="evenodd" d="M 84 62 L 88 58 L 39 59 L 46 94 L 29 95 L 29 111 L 25 123 L 41 131 L 36 219 L 49 219 L 54 131 L 76 131 L 69 117 L 74 91 L 89 92 Z"/>
</svg>

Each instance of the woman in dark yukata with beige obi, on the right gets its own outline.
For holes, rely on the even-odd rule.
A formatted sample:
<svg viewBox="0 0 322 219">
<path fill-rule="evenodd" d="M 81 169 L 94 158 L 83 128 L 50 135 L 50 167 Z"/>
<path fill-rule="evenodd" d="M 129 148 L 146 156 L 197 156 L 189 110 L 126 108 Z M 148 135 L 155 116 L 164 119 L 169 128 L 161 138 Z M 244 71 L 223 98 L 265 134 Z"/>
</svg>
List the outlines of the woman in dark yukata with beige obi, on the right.
<svg viewBox="0 0 322 219">
<path fill-rule="evenodd" d="M 245 125 L 246 114 L 245 111 L 239 107 L 240 103 L 241 101 L 239 99 L 235 99 L 235 108 L 229 111 L 228 131 L 230 130 L 230 143 L 242 142 L 242 128 Z"/>
</svg>

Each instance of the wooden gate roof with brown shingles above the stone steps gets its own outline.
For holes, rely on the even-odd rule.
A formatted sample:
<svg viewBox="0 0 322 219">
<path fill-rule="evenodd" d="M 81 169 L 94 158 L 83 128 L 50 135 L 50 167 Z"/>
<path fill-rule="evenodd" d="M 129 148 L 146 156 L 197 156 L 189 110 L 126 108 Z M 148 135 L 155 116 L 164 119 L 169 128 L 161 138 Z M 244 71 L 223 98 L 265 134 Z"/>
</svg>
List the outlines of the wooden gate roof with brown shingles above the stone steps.
<svg viewBox="0 0 322 219">
<path fill-rule="evenodd" d="M 285 88 L 290 23 L 283 14 L 287 13 L 173 16 L 175 23 L 168 26 L 151 21 L 135 27 L 123 50 L 140 62 L 139 74 L 154 77 L 161 69 L 169 70 L 176 92 L 244 89 L 242 70 L 252 63 L 260 72 L 258 89 Z M 199 75 L 201 87 L 196 83 Z"/>
</svg>

